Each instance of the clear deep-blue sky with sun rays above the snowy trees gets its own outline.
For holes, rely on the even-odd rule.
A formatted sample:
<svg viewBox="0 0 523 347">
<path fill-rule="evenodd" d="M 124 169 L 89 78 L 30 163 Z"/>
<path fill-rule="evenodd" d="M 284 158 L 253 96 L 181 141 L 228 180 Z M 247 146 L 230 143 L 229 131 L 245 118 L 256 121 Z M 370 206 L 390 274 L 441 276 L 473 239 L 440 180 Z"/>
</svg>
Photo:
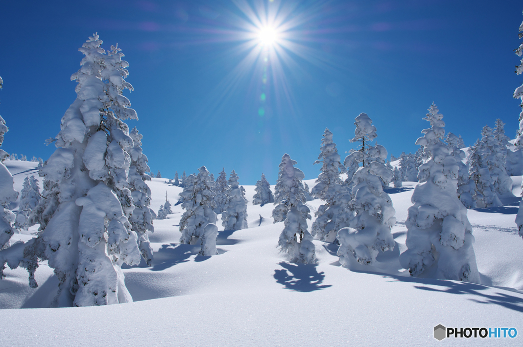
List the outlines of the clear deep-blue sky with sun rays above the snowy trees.
<svg viewBox="0 0 523 347">
<path fill-rule="evenodd" d="M 70 76 L 93 32 L 126 55 L 140 118 L 128 124 L 164 177 L 206 165 L 215 176 L 235 170 L 240 184 L 262 172 L 274 184 L 289 153 L 314 178 L 325 127 L 343 160 L 361 112 L 389 154 L 414 152 L 433 101 L 466 145 L 496 118 L 513 138 L 522 10 L 455 0 L 2 2 L 2 148 L 49 158 L 44 140 L 76 98 Z M 259 44 L 265 18 L 279 25 L 274 45 Z"/>
</svg>

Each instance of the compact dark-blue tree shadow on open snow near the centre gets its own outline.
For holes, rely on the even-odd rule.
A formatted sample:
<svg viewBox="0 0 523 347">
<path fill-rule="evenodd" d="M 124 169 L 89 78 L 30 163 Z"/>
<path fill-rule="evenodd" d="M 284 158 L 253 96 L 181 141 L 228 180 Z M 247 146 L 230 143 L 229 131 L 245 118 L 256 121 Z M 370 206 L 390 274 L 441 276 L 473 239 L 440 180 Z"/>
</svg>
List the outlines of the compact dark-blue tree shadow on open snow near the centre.
<svg viewBox="0 0 523 347">
<path fill-rule="evenodd" d="M 316 270 L 316 264 L 290 264 L 281 261 L 279 265 L 283 269 L 274 270 L 274 278 L 277 283 L 291 291 L 312 292 L 332 286 L 331 284 L 321 285 L 325 275 Z"/>
</svg>

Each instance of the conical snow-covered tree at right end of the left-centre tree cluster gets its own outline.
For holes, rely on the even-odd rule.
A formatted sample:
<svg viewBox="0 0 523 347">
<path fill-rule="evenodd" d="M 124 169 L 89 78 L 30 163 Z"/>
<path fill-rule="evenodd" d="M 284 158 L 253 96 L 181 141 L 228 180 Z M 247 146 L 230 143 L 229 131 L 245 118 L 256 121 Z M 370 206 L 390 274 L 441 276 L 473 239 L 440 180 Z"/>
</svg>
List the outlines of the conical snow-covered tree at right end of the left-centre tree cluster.
<svg viewBox="0 0 523 347">
<path fill-rule="evenodd" d="M 229 190 L 226 192 L 227 201 L 222 212 L 222 226 L 224 230 L 247 229 L 247 199 L 238 185 L 238 175 L 234 170 L 229 177 Z"/>
</svg>

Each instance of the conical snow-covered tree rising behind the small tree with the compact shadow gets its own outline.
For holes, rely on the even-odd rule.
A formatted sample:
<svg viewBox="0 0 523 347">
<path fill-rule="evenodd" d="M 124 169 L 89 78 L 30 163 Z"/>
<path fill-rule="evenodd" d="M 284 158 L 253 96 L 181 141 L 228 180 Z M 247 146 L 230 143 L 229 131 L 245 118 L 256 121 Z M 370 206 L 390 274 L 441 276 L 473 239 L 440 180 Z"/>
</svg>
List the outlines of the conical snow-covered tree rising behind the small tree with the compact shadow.
<svg viewBox="0 0 523 347">
<path fill-rule="evenodd" d="M 306 202 L 305 192 L 302 186 L 300 186 L 305 175 L 300 169 L 293 166 L 296 163 L 286 153 L 281 158 L 280 165 L 278 165 L 278 180 L 274 189 L 274 205 L 276 207 L 272 210 L 274 223 L 281 222 L 287 218 L 290 205 L 286 204 L 285 201 L 300 200 L 303 204 Z"/>
</svg>

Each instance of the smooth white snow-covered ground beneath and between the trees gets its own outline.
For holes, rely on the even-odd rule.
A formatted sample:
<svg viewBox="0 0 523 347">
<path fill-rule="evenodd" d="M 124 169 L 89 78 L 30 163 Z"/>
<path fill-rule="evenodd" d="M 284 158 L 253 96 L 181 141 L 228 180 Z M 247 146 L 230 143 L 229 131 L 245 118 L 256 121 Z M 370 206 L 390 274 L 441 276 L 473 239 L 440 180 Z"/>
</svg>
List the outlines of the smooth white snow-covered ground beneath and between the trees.
<svg viewBox="0 0 523 347">
<path fill-rule="evenodd" d="M 6 161 L 21 190 L 37 163 Z M 276 245 L 283 222 L 272 223 L 274 205 L 252 206 L 254 186 L 244 186 L 249 229 L 218 234 L 219 255 L 197 256 L 180 245 L 175 206 L 181 188 L 153 178 L 152 208 L 172 203 L 169 219 L 154 221 L 152 267 L 126 268 L 134 302 L 103 307 L 46 308 L 58 281 L 47 264 L 31 289 L 24 269 L 0 281 L 0 345 L 5 346 L 345 346 L 521 345 L 523 339 L 523 240 L 514 219 L 518 202 L 469 210 L 474 250 L 484 285 L 411 278 L 397 256 L 405 250 L 407 208 L 415 183 L 391 188 L 398 220 L 396 247 L 381 269 L 340 267 L 336 247 L 320 241 L 316 265 L 289 264 Z M 515 193 L 521 177 L 513 177 Z M 309 187 L 314 180 L 308 180 Z M 41 182 L 40 182 L 41 184 Z M 241 177 L 240 177 L 241 184 Z M 272 187 L 274 189 L 274 186 Z M 311 214 L 321 205 L 307 204 Z M 313 217 L 314 219 L 314 217 Z M 309 226 L 312 222 L 309 222 Z M 35 232 L 33 227 L 27 234 Z M 223 228 L 221 228 L 223 229 Z M 309 229 L 310 230 L 310 229 Z M 31 235 L 16 234 L 15 240 Z M 449 338 L 434 327 L 515 327 L 516 338 Z M 473 340 L 473 341 L 472 341 Z"/>
</svg>

